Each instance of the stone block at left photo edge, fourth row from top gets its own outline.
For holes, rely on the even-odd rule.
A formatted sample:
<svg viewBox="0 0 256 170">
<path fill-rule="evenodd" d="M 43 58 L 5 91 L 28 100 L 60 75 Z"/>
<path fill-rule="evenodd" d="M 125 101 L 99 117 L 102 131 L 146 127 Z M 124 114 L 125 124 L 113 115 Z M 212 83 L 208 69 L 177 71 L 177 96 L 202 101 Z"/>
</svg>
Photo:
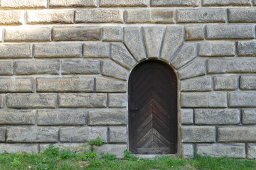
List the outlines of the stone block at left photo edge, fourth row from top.
<svg viewBox="0 0 256 170">
<path fill-rule="evenodd" d="M 1 21 L 1 20 L 0 20 Z M 29 44 L 1 44 L 0 58 L 32 58 L 31 45 Z"/>
</svg>

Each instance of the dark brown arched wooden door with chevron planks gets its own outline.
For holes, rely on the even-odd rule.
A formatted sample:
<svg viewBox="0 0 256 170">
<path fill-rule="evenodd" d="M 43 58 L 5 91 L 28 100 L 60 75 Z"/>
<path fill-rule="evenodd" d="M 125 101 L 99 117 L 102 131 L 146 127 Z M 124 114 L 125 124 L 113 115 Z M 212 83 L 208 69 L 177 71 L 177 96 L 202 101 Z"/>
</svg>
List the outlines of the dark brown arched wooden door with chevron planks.
<svg viewBox="0 0 256 170">
<path fill-rule="evenodd" d="M 140 63 L 129 77 L 129 151 L 176 154 L 177 80 L 164 62 Z"/>
</svg>

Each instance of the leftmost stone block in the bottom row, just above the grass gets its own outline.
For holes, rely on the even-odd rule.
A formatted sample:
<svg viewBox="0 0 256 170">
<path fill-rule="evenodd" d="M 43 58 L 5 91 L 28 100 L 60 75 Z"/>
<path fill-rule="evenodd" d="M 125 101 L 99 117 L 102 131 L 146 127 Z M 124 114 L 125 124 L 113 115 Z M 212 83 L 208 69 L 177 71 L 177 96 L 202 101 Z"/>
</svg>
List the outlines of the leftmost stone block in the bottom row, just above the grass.
<svg viewBox="0 0 256 170">
<path fill-rule="evenodd" d="M 0 144 L 0 153 L 38 153 L 38 145 L 36 144 Z"/>
</svg>

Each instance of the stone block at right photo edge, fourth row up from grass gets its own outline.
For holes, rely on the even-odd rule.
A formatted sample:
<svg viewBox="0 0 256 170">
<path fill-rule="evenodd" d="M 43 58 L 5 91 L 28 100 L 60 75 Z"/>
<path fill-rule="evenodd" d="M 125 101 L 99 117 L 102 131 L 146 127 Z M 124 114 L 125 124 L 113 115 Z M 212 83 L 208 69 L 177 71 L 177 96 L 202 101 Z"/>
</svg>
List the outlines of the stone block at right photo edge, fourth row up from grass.
<svg viewBox="0 0 256 170">
<path fill-rule="evenodd" d="M 239 107 L 255 107 L 256 92 L 230 92 L 229 106 L 233 108 Z"/>
</svg>

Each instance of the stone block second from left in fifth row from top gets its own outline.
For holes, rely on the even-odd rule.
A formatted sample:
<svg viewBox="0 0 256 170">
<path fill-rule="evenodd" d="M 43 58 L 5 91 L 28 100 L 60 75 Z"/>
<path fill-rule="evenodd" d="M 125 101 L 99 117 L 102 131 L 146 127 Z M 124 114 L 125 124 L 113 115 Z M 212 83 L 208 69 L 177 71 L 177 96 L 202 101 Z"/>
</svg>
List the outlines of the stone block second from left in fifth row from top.
<svg viewBox="0 0 256 170">
<path fill-rule="evenodd" d="M 59 62 L 56 60 L 26 60 L 14 64 L 16 75 L 58 74 Z"/>
</svg>

